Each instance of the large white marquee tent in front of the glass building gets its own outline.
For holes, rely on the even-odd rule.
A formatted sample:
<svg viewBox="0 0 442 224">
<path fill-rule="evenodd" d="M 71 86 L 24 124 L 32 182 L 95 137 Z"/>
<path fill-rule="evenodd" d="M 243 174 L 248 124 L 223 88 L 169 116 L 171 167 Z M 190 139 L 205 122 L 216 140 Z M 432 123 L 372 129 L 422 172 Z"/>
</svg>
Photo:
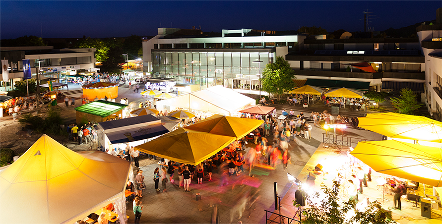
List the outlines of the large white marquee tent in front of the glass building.
<svg viewBox="0 0 442 224">
<path fill-rule="evenodd" d="M 182 108 L 234 116 L 239 110 L 255 104 L 254 99 L 218 85 L 158 101 L 157 110 L 170 112 Z"/>
</svg>

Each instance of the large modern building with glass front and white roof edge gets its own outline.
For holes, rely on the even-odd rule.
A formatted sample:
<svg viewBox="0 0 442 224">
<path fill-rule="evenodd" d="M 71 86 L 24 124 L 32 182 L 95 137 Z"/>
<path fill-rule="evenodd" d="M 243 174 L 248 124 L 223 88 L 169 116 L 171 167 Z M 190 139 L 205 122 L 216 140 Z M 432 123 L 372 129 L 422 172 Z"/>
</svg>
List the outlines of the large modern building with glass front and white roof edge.
<svg viewBox="0 0 442 224">
<path fill-rule="evenodd" d="M 252 29 L 222 30 L 212 37 L 195 29 L 158 28 L 157 36 L 143 42 L 144 71 L 199 84 L 201 89 L 223 85 L 257 94 L 265 65 L 298 51 L 305 37 Z"/>
</svg>

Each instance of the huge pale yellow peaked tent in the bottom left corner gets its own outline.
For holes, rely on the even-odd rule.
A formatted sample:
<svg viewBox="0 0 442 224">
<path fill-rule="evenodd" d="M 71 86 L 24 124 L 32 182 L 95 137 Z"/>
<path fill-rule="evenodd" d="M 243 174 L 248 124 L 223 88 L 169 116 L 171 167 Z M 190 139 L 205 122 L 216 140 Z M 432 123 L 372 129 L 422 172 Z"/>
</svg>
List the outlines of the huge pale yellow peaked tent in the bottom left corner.
<svg viewBox="0 0 442 224">
<path fill-rule="evenodd" d="M 129 168 L 125 160 L 76 153 L 43 135 L 0 172 L 0 223 L 74 223 L 123 197 Z"/>
</svg>

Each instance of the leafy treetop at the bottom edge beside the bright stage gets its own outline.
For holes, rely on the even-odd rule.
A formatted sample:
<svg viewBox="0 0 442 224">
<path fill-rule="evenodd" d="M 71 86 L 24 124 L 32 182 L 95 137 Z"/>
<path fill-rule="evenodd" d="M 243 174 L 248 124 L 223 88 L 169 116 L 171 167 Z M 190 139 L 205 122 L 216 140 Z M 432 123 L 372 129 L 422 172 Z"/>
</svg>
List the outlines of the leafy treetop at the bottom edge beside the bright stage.
<svg viewBox="0 0 442 224">
<path fill-rule="evenodd" d="M 328 188 L 324 183 L 321 183 L 321 189 L 324 193 L 323 199 L 314 203 L 311 196 L 306 196 L 306 202 L 309 208 L 302 211 L 305 219 L 302 221 L 305 224 L 317 224 L 317 223 L 339 223 L 339 224 L 352 224 L 352 223 L 377 223 L 377 224 L 392 224 L 396 223 L 387 217 L 387 212 L 383 210 L 379 202 L 372 202 L 367 206 L 365 211 L 355 211 L 355 214 L 348 217 L 348 212 L 353 210 L 355 202 L 352 199 L 348 201 L 339 202 L 339 180 L 333 180 L 333 185 Z M 313 196 L 313 199 L 318 199 L 319 193 Z M 294 203 L 295 205 L 295 203 Z"/>
</svg>

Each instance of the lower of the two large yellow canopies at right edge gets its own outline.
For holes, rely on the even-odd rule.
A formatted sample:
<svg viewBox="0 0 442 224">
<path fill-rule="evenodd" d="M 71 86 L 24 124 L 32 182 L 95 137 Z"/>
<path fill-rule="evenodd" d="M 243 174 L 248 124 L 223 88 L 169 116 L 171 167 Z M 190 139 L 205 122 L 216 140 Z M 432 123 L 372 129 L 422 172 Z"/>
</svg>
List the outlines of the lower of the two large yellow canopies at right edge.
<svg viewBox="0 0 442 224">
<path fill-rule="evenodd" d="M 350 153 L 377 172 L 442 186 L 441 149 L 396 140 L 359 142 Z"/>
</svg>

